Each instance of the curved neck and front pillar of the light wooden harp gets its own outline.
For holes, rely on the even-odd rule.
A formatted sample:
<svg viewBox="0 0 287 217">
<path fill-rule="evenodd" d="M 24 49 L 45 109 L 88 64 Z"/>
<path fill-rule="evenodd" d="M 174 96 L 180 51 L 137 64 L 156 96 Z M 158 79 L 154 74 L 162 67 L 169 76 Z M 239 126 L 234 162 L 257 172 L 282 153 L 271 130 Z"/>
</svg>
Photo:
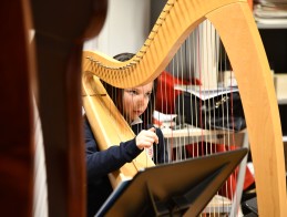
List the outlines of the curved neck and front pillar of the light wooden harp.
<svg viewBox="0 0 287 217">
<path fill-rule="evenodd" d="M 238 83 L 255 166 L 259 215 L 285 216 L 286 183 L 278 106 L 267 58 L 246 1 L 167 1 L 148 39 L 132 60 L 120 63 L 84 52 L 83 90 L 91 87 L 90 81 L 94 80 L 91 74 L 119 87 L 154 80 L 205 19 L 218 32 Z M 86 97 L 94 93 L 83 94 Z M 85 105 L 90 110 L 88 106 L 92 105 Z"/>
</svg>

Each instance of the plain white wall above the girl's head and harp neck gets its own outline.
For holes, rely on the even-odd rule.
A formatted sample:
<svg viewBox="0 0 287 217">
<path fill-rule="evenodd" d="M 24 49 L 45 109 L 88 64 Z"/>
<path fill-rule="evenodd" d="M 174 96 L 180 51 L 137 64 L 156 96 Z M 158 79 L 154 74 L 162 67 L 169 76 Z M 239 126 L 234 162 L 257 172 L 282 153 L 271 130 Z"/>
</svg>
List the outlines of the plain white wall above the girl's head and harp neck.
<svg viewBox="0 0 287 217">
<path fill-rule="evenodd" d="M 85 42 L 84 50 L 110 56 L 136 53 L 150 33 L 150 0 L 109 0 L 107 16 L 100 34 Z"/>
</svg>

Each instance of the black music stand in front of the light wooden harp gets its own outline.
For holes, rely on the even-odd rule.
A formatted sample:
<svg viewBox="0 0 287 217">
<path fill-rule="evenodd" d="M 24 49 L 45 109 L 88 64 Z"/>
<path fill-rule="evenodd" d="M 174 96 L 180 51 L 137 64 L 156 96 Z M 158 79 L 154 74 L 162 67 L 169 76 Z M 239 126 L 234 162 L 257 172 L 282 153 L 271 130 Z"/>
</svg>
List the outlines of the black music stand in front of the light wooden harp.
<svg viewBox="0 0 287 217">
<path fill-rule="evenodd" d="M 239 148 L 148 167 L 123 182 L 95 216 L 198 216 L 247 154 Z"/>
</svg>

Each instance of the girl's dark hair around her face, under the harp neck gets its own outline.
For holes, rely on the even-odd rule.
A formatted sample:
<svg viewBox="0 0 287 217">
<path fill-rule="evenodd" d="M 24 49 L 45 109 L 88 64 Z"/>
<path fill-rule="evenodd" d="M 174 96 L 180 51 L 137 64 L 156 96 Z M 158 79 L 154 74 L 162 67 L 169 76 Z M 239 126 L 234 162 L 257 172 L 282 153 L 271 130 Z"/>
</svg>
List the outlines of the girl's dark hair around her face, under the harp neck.
<svg viewBox="0 0 287 217">
<path fill-rule="evenodd" d="M 132 59 L 134 55 L 135 55 L 134 53 L 120 53 L 120 54 L 115 55 L 114 59 L 119 60 L 121 62 L 124 62 L 124 61 Z M 115 106 L 123 114 L 123 89 L 112 86 L 103 81 L 102 81 L 102 83 L 103 83 L 107 94 L 114 102 Z M 153 124 L 153 111 L 154 111 L 154 105 L 155 105 L 156 85 L 157 85 L 157 79 L 154 81 L 153 92 L 151 94 L 147 107 L 144 111 L 144 113 L 141 115 L 144 127 L 147 127 L 147 125 Z"/>
</svg>

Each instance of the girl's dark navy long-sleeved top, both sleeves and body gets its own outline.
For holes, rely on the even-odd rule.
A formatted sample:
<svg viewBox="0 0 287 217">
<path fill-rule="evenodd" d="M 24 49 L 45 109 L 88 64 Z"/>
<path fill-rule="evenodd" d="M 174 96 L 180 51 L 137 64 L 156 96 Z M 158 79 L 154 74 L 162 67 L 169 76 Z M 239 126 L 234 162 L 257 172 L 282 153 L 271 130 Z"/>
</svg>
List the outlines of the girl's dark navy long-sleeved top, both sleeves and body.
<svg viewBox="0 0 287 217">
<path fill-rule="evenodd" d="M 132 126 L 132 130 L 137 135 L 143 130 L 143 126 L 142 124 L 136 124 Z M 155 164 L 167 163 L 168 155 L 163 133 L 160 128 L 156 128 L 156 134 L 158 144 L 153 146 L 153 161 Z M 95 215 L 113 190 L 107 174 L 117 170 L 125 163 L 132 162 L 142 151 L 137 148 L 135 138 L 133 138 L 100 152 L 86 117 L 84 117 L 84 142 L 88 169 L 86 211 L 88 217 L 90 217 Z"/>
</svg>

